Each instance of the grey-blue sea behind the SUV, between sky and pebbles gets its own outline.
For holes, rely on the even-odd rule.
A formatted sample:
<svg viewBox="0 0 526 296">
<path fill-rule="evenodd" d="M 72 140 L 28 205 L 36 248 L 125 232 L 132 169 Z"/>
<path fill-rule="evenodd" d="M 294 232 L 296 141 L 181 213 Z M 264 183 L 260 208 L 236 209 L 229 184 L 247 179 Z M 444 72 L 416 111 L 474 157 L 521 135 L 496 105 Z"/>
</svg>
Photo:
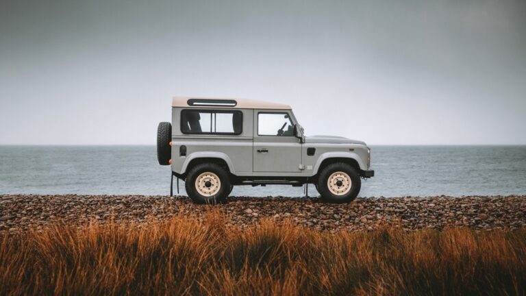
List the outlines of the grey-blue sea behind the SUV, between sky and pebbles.
<svg viewBox="0 0 526 296">
<path fill-rule="evenodd" d="M 526 146 L 371 146 L 371 169 L 359 197 L 526 195 Z M 0 146 L 0 194 L 168 195 L 170 178 L 155 146 Z M 231 196 L 303 197 L 305 187 L 236 186 Z"/>
</svg>

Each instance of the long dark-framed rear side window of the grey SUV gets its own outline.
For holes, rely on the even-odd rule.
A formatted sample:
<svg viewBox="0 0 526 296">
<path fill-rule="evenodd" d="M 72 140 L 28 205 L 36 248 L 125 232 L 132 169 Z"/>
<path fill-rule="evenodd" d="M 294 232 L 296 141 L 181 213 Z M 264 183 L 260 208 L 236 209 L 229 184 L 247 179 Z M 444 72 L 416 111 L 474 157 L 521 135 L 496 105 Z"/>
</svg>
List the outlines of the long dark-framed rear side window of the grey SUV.
<svg viewBox="0 0 526 296">
<path fill-rule="evenodd" d="M 181 111 L 183 134 L 241 134 L 243 113 L 239 110 L 189 110 Z"/>
</svg>

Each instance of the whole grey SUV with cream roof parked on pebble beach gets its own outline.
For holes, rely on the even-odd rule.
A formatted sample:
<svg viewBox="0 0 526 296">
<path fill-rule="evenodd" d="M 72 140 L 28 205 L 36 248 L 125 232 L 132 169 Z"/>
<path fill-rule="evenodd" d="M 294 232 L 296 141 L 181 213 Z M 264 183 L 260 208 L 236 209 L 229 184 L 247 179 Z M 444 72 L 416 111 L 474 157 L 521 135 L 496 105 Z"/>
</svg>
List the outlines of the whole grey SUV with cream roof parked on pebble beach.
<svg viewBox="0 0 526 296">
<path fill-rule="evenodd" d="M 249 99 L 175 97 L 157 151 L 199 204 L 224 201 L 234 186 L 266 184 L 314 184 L 326 201 L 343 203 L 360 192 L 360 177 L 374 175 L 364 142 L 304 136 L 290 106 Z"/>
</svg>

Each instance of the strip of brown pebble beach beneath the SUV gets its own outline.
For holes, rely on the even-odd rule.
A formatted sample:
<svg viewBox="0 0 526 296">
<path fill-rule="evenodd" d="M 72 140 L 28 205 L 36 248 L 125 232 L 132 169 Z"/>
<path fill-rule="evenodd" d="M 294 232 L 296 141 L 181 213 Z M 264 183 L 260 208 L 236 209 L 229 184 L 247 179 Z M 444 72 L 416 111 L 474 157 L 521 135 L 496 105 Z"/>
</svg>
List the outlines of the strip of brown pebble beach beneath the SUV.
<svg viewBox="0 0 526 296">
<path fill-rule="evenodd" d="M 247 227 L 260 219 L 289 219 L 318 230 L 373 230 L 401 225 L 407 230 L 472 227 L 509 230 L 526 226 L 526 196 L 358 198 L 351 204 L 324 204 L 318 198 L 230 197 L 227 204 L 199 206 L 188 197 L 142 195 L 0 195 L 0 232 L 41 229 L 53 221 L 85 225 L 96 221 L 197 217 L 210 209 L 225 223 Z"/>
</svg>

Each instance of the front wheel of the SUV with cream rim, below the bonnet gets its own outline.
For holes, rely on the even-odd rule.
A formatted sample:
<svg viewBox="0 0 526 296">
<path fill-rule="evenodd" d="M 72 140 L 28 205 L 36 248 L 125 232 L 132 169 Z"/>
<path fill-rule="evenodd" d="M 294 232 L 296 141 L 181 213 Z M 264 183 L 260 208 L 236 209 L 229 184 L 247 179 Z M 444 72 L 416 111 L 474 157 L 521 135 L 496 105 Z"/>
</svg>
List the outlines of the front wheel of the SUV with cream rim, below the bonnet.
<svg viewBox="0 0 526 296">
<path fill-rule="evenodd" d="M 342 204 L 353 201 L 361 186 L 360 175 L 354 167 L 336 162 L 321 171 L 317 189 L 325 201 Z"/>
</svg>

